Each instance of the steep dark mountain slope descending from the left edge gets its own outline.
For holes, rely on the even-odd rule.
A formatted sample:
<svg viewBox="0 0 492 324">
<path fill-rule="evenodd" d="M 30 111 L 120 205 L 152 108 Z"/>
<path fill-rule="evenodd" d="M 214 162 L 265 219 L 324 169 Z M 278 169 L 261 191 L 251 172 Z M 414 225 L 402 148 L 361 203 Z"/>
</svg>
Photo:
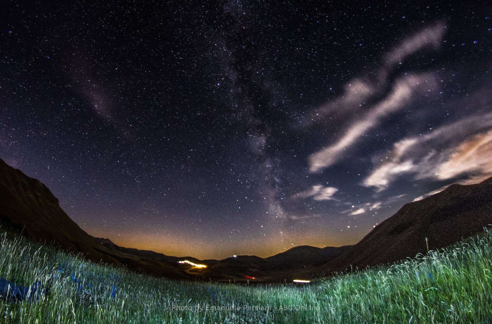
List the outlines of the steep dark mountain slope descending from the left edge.
<svg viewBox="0 0 492 324">
<path fill-rule="evenodd" d="M 173 278 L 188 275 L 177 267 L 176 258 L 146 255 L 110 248 L 82 230 L 68 217 L 58 199 L 39 180 L 25 175 L 0 159 L 0 220 L 34 241 L 54 245 L 96 262 L 126 266 L 132 270 Z M 137 250 L 138 251 L 138 250 Z M 154 252 L 153 252 L 154 253 Z M 158 253 L 155 253 L 158 254 Z"/>
</svg>

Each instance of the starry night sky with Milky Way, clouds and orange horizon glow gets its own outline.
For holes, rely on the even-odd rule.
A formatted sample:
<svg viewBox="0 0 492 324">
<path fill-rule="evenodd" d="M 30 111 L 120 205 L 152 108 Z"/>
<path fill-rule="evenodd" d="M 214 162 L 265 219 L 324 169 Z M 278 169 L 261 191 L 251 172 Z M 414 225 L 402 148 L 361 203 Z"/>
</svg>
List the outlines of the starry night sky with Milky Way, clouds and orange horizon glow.
<svg viewBox="0 0 492 324">
<path fill-rule="evenodd" d="M 358 242 L 492 176 L 476 1 L 6 1 L 0 158 L 168 255 Z"/>
</svg>

